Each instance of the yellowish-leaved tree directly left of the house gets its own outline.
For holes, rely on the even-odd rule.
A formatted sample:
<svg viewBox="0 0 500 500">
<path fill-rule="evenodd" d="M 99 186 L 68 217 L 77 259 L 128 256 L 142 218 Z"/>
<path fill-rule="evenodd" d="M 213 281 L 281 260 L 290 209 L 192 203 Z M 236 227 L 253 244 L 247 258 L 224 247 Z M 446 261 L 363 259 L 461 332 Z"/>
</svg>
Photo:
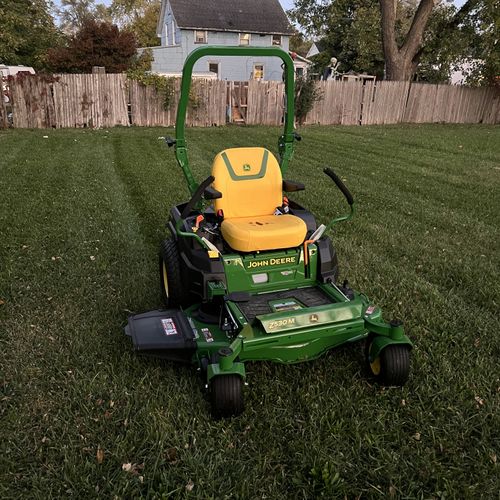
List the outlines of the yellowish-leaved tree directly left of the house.
<svg viewBox="0 0 500 500">
<path fill-rule="evenodd" d="M 113 0 L 110 12 L 121 27 L 132 31 L 140 47 L 158 45 L 156 25 L 161 0 Z"/>
</svg>

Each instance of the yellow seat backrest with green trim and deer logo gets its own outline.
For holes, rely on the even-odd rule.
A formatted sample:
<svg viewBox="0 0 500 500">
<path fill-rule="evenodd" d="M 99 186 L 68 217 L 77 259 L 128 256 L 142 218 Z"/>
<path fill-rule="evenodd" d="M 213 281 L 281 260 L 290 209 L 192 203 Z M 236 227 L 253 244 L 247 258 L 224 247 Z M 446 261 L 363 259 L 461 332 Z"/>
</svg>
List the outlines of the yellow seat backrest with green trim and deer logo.
<svg viewBox="0 0 500 500">
<path fill-rule="evenodd" d="M 272 215 L 283 203 L 281 170 L 265 148 L 233 148 L 219 153 L 212 166 L 213 186 L 222 193 L 215 209 L 224 217 Z"/>
</svg>

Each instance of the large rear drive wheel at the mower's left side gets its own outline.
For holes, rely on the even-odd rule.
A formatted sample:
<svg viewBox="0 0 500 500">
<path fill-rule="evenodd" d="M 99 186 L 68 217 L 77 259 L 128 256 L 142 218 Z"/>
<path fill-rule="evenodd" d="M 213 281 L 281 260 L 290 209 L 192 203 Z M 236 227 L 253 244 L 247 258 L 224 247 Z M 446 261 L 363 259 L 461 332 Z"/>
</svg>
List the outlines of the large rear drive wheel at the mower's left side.
<svg viewBox="0 0 500 500">
<path fill-rule="evenodd" d="M 160 284 L 166 307 L 179 307 L 187 302 L 189 290 L 182 280 L 179 250 L 170 238 L 160 246 Z"/>
</svg>

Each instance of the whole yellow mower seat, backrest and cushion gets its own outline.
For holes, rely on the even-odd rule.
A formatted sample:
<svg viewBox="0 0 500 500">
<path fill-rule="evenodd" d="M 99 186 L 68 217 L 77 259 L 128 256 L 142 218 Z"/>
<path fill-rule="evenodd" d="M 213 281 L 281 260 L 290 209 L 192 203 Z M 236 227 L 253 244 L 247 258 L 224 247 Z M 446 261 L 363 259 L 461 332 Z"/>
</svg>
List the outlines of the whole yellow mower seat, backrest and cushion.
<svg viewBox="0 0 500 500">
<path fill-rule="evenodd" d="M 281 170 L 264 148 L 233 148 L 214 160 L 214 188 L 222 193 L 215 209 L 222 210 L 224 240 L 234 250 L 256 252 L 299 246 L 305 222 L 294 215 L 274 215 L 283 203 Z"/>
</svg>

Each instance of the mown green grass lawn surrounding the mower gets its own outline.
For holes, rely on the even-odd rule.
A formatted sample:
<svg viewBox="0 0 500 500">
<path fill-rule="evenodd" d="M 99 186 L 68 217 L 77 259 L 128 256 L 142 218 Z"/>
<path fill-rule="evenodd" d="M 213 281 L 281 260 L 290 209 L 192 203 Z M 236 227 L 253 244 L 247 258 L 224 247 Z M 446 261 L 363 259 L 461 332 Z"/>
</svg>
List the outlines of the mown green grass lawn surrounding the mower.
<svg viewBox="0 0 500 500">
<path fill-rule="evenodd" d="M 408 384 L 368 380 L 360 344 L 254 363 L 244 415 L 212 421 L 195 371 L 122 330 L 161 305 L 172 131 L 0 132 L 0 497 L 498 498 L 500 128 L 302 132 L 296 198 L 327 221 L 346 205 L 322 168 L 346 180 L 341 278 L 404 320 Z M 197 178 L 278 133 L 188 130 Z"/>
</svg>

